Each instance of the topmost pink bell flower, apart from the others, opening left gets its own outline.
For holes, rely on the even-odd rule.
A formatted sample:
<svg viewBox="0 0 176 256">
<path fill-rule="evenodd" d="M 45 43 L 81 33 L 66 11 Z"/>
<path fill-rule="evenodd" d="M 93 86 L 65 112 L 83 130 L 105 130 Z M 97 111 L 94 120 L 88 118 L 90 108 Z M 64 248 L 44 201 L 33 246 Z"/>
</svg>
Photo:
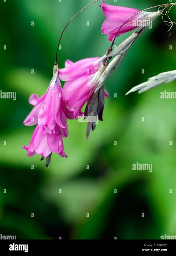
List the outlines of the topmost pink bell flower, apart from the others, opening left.
<svg viewBox="0 0 176 256">
<path fill-rule="evenodd" d="M 103 34 L 107 34 L 107 38 L 111 42 L 113 42 L 113 39 L 115 38 L 115 35 L 118 29 L 120 29 L 121 25 L 123 25 L 123 23 L 135 13 L 140 12 L 140 10 L 133 8 L 109 5 L 104 3 L 103 0 L 100 7 L 104 16 L 106 17 L 104 23 L 102 24 L 101 30 Z M 137 19 L 137 15 L 132 17 L 127 23 L 125 23 L 123 27 L 121 27 L 117 36 L 135 29 L 136 26 L 133 24 L 135 19 Z"/>
</svg>

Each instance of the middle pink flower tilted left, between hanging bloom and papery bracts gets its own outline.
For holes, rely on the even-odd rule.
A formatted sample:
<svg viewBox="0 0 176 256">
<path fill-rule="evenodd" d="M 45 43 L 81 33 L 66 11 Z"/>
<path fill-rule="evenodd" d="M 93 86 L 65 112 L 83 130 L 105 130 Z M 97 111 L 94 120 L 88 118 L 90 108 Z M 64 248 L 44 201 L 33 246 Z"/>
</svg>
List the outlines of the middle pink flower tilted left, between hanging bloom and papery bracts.
<svg viewBox="0 0 176 256">
<path fill-rule="evenodd" d="M 94 93 L 94 78 L 101 64 L 99 57 L 81 59 L 75 63 L 66 60 L 65 68 L 59 69 L 59 78 L 66 81 L 62 90 L 63 99 L 69 108 L 74 109 L 75 119 L 81 115 L 81 108 Z M 105 97 L 108 97 L 107 91 Z"/>
</svg>

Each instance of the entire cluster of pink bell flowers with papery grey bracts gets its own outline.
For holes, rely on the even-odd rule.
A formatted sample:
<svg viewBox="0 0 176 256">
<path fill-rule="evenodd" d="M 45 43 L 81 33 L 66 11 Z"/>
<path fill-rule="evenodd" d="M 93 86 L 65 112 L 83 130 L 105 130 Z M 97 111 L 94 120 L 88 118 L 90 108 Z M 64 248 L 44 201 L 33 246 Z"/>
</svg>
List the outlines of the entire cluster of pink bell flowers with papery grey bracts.
<svg viewBox="0 0 176 256">
<path fill-rule="evenodd" d="M 159 11 L 148 13 L 127 7 L 111 6 L 103 0 L 100 7 L 106 17 L 102 24 L 102 33 L 107 34 L 111 42 L 115 36 L 133 30 L 136 27 L 132 24 L 134 19 L 153 20 L 161 14 Z M 34 107 L 23 123 L 26 126 L 36 125 L 36 128 L 29 146 L 23 146 L 27 150 L 27 156 L 37 153 L 42 159 L 46 158 L 47 166 L 52 152 L 67 158 L 63 147 L 63 138 L 68 137 L 67 119 L 78 119 L 82 115 L 94 114 L 102 121 L 104 98 L 108 97 L 108 92 L 103 87 L 104 81 L 118 67 L 143 30 L 142 28 L 133 33 L 113 52 L 109 48 L 101 58 L 86 58 L 75 63 L 66 60 L 65 68 L 61 69 L 57 61 L 55 62 L 53 77 L 46 93 L 40 98 L 37 94 L 32 94 L 29 98 L 29 103 Z M 109 63 L 112 57 L 114 59 Z M 65 81 L 63 88 L 60 80 Z M 85 112 L 82 113 L 86 103 Z M 95 129 L 93 121 L 88 123 L 87 138 L 91 129 Z"/>
</svg>

